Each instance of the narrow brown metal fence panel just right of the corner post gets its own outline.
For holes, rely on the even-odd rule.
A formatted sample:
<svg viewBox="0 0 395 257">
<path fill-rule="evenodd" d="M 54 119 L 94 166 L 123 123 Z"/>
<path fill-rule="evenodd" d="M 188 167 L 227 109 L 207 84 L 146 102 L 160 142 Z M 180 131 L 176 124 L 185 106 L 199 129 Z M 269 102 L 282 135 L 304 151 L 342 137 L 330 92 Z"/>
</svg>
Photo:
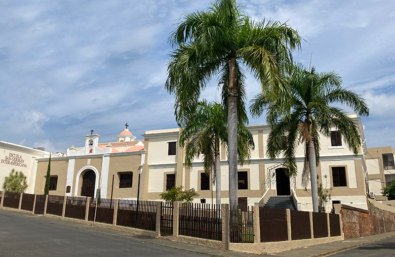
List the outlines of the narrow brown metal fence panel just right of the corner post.
<svg viewBox="0 0 395 257">
<path fill-rule="evenodd" d="M 237 206 L 230 207 L 229 215 L 229 240 L 231 243 L 254 243 L 253 211 L 247 206 L 242 212 Z"/>
</svg>

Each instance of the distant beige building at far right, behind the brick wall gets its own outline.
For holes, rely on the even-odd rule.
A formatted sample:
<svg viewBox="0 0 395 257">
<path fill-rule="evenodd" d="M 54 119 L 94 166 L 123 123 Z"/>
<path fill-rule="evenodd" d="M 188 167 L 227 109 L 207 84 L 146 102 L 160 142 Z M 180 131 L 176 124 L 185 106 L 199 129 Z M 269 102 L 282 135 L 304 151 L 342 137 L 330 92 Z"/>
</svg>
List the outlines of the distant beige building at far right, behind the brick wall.
<svg viewBox="0 0 395 257">
<path fill-rule="evenodd" d="M 389 186 L 395 179 L 394 154 L 391 146 L 368 148 L 366 165 L 369 174 L 369 191 L 378 201 L 388 200 L 382 196 L 382 188 Z"/>
</svg>

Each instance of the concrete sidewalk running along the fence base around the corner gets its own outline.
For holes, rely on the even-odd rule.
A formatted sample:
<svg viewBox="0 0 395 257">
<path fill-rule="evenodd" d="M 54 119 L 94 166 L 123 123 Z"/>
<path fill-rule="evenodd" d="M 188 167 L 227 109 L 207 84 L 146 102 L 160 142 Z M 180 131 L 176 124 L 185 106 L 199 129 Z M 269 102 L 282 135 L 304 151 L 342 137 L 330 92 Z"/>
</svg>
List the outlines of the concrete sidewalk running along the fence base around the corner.
<svg viewBox="0 0 395 257">
<path fill-rule="evenodd" d="M 26 213 L 21 213 L 17 211 L 10 211 L 10 210 L 1 210 L 2 212 L 7 212 L 7 213 L 13 213 L 17 215 L 26 215 L 26 216 L 33 216 L 32 214 L 26 214 Z M 34 215 L 37 216 L 37 215 Z M 40 218 L 49 218 L 49 216 L 41 216 Z M 119 236 L 119 237 L 124 237 L 124 238 L 129 238 L 129 239 L 134 239 L 134 240 L 139 240 L 142 242 L 147 242 L 147 243 L 153 243 L 161 246 L 167 246 L 171 248 L 176 248 L 180 250 L 186 250 L 194 253 L 199 253 L 199 254 L 204 254 L 204 255 L 209 255 L 209 256 L 215 256 L 215 257 L 256 257 L 257 255 L 253 254 L 246 254 L 246 253 L 238 253 L 238 252 L 232 252 L 232 251 L 224 251 L 212 247 L 207 247 L 207 246 L 200 246 L 200 245 L 192 245 L 192 244 L 187 244 L 187 243 L 182 243 L 182 242 L 175 242 L 171 241 L 171 236 L 168 237 L 160 237 L 160 238 L 153 238 L 149 236 L 143 236 L 143 235 L 136 235 L 128 232 L 122 232 L 122 231 L 117 231 L 117 230 L 111 230 L 111 229 L 105 229 L 97 226 L 90 226 L 90 225 L 85 225 L 81 223 L 74 223 L 66 220 L 59 220 L 59 219 L 53 219 L 51 222 L 57 222 L 57 223 L 63 223 L 68 226 L 72 227 L 78 227 L 79 229 L 89 229 L 93 230 L 95 232 L 99 233 L 105 233 L 105 234 L 110 234 L 114 236 Z M 359 237 L 359 238 L 353 238 L 353 239 L 348 239 L 344 241 L 338 241 L 338 242 L 332 242 L 332 243 L 326 243 L 326 244 L 320 244 L 320 245 L 315 245 L 311 247 L 306 247 L 306 248 L 299 248 L 295 250 L 290 250 L 286 252 L 281 252 L 277 254 L 271 254 L 271 255 L 266 255 L 267 257 L 322 257 L 322 256 L 328 256 L 331 254 L 335 254 L 338 252 L 346 251 L 349 249 L 353 249 L 359 246 L 371 244 L 386 238 L 390 237 L 395 237 L 395 232 L 389 232 L 389 233 L 384 233 L 384 234 L 379 234 L 379 235 L 374 235 L 374 236 L 368 236 L 368 237 Z"/>
</svg>

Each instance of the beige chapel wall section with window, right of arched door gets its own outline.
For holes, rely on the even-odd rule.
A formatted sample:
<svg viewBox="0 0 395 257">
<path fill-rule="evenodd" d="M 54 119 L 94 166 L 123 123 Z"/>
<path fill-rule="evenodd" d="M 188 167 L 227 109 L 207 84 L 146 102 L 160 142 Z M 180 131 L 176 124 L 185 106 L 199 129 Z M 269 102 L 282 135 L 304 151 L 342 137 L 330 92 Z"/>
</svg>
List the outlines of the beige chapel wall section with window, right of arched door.
<svg viewBox="0 0 395 257">
<path fill-rule="evenodd" d="M 141 155 L 113 156 L 110 157 L 110 165 L 107 182 L 107 198 L 111 197 L 111 188 L 114 175 L 113 198 L 137 198 L 138 180 L 140 174 Z M 119 188 L 119 174 L 133 172 L 132 187 Z M 104 196 L 103 196 L 104 197 Z"/>
</svg>

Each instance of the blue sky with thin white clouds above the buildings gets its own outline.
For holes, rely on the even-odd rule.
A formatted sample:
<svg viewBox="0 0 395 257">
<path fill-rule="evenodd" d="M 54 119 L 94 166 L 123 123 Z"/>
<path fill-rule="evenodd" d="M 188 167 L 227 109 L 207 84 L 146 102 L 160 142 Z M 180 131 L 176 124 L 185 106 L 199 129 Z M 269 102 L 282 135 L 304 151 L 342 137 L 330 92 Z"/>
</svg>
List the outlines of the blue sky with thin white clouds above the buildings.
<svg viewBox="0 0 395 257">
<path fill-rule="evenodd" d="M 163 89 L 168 34 L 211 0 L 0 1 L 0 140 L 52 152 L 82 146 L 90 129 L 175 128 Z M 395 1 L 239 0 L 255 19 L 286 22 L 307 41 L 295 61 L 334 70 L 362 94 L 368 147 L 395 147 Z M 260 87 L 247 77 L 248 98 Z M 219 99 L 215 86 L 203 97 Z M 264 118 L 250 124 L 265 123 Z"/>
</svg>

